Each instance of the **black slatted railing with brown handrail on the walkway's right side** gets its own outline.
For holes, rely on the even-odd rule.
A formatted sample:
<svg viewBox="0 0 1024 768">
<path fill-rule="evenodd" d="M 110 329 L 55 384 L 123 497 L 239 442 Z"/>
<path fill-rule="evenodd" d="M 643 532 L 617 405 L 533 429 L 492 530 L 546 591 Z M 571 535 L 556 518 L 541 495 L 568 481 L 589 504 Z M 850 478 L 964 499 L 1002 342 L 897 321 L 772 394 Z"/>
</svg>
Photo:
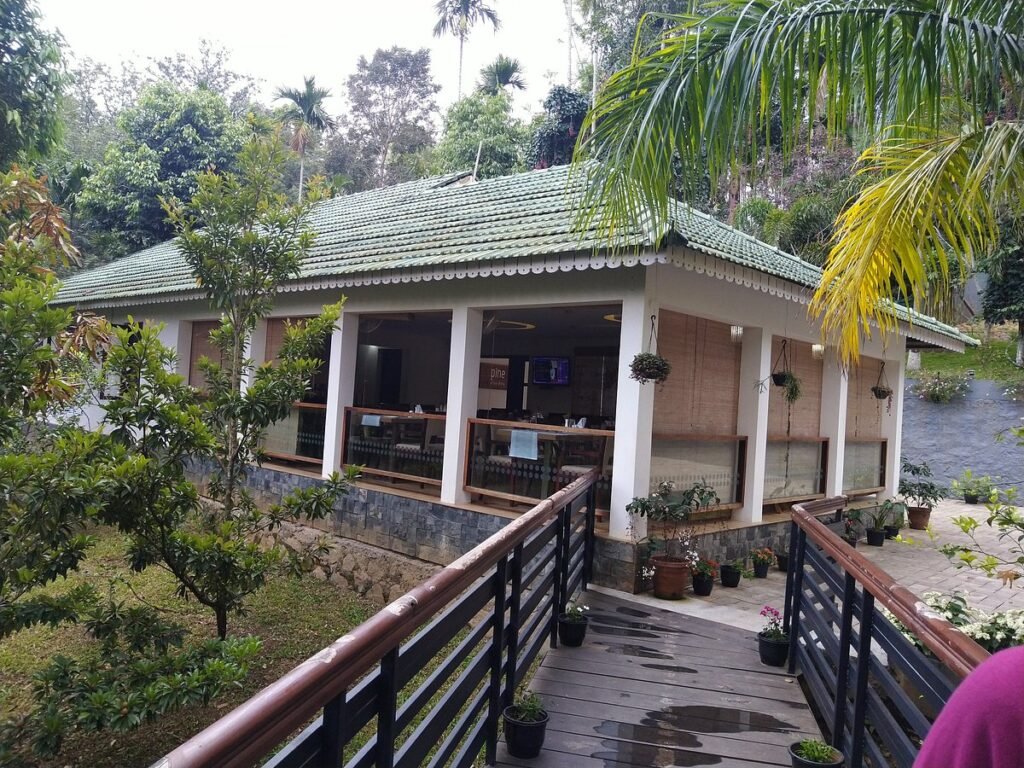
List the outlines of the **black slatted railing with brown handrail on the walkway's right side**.
<svg viewBox="0 0 1024 768">
<path fill-rule="evenodd" d="M 849 768 L 909 768 L 961 678 L 988 653 L 817 519 L 846 501 L 793 508 L 790 672 L 799 669 Z"/>
</svg>

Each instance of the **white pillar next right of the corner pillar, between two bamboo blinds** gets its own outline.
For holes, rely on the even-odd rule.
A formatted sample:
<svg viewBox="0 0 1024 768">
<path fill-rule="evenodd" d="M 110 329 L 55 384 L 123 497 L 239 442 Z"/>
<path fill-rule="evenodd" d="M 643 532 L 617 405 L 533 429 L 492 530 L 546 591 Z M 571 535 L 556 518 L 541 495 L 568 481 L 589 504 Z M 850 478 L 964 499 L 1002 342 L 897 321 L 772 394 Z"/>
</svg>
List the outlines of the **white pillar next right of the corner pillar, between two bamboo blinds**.
<svg viewBox="0 0 1024 768">
<path fill-rule="evenodd" d="M 739 402 L 736 434 L 746 436 L 743 506 L 736 519 L 759 522 L 765 498 L 765 457 L 768 453 L 768 385 L 758 386 L 771 374 L 771 333 L 763 328 L 743 329 L 739 357 Z"/>
</svg>

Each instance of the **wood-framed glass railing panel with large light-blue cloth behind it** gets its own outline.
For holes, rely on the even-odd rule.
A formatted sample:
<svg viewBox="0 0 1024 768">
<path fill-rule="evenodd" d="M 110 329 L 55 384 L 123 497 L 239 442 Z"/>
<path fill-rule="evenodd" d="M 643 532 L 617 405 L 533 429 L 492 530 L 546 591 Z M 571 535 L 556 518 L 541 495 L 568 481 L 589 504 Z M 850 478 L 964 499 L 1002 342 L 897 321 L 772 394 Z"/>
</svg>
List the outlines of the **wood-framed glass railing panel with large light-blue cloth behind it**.
<svg viewBox="0 0 1024 768">
<path fill-rule="evenodd" d="M 597 507 L 610 506 L 610 430 L 470 419 L 469 446 L 464 476 L 471 494 L 530 503 L 597 469 Z"/>
</svg>

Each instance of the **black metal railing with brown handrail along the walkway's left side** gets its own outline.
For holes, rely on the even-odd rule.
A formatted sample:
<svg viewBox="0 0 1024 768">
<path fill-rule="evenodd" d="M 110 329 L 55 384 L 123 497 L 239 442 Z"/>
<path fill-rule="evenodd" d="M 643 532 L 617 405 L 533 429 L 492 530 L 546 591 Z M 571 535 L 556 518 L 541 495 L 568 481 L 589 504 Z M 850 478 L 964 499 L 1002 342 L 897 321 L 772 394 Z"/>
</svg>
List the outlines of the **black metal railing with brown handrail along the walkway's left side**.
<svg viewBox="0 0 1024 768">
<path fill-rule="evenodd" d="M 544 500 L 156 765 L 494 763 L 502 710 L 590 580 L 596 479 Z"/>
</svg>

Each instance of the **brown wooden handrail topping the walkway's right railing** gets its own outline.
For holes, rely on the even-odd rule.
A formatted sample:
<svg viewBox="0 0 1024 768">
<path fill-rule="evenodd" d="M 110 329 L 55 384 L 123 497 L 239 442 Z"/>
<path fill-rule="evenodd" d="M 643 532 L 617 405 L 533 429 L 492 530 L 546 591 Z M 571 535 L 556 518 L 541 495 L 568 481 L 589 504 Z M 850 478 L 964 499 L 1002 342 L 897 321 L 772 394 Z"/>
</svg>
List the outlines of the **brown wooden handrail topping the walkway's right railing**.
<svg viewBox="0 0 1024 768">
<path fill-rule="evenodd" d="M 906 587 L 846 544 L 829 530 L 816 515 L 838 512 L 846 506 L 845 496 L 822 499 L 793 507 L 793 521 L 807 538 L 852 575 L 860 586 L 884 605 L 935 656 L 958 677 L 967 677 L 988 658 L 988 651 L 953 627 L 924 603 Z"/>
</svg>

